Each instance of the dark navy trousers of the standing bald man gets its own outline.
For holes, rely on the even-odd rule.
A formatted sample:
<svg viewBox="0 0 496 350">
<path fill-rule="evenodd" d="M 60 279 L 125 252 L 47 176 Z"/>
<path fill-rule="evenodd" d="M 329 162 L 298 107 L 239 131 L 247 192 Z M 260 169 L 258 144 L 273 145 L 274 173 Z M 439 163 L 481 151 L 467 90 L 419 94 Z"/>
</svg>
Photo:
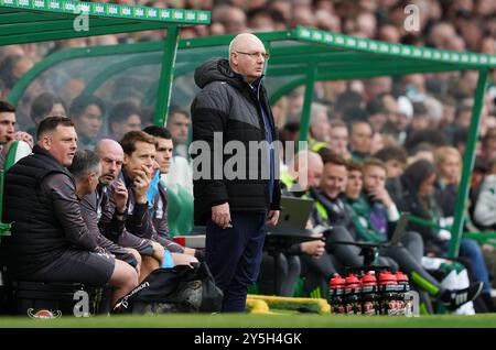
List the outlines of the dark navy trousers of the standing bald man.
<svg viewBox="0 0 496 350">
<path fill-rule="evenodd" d="M 248 287 L 260 270 L 266 215 L 231 212 L 230 219 L 233 228 L 228 229 L 207 220 L 205 259 L 224 292 L 223 311 L 242 313 Z"/>
</svg>

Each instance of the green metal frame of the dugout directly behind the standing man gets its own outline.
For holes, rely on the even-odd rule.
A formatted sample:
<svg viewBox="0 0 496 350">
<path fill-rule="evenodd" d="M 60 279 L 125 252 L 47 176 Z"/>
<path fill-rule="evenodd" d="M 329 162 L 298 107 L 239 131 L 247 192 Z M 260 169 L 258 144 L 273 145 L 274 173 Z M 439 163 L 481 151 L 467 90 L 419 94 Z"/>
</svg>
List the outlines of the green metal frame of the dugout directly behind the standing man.
<svg viewBox="0 0 496 350">
<path fill-rule="evenodd" d="M 2 0 L 0 0 L 2 1 Z M 4 0 L 3 0 L 4 1 Z M 488 70 L 496 66 L 496 56 L 474 53 L 460 53 L 441 51 L 427 47 L 416 47 L 410 45 L 400 45 L 385 43 L 374 40 L 352 37 L 343 34 L 328 33 L 321 30 L 313 30 L 299 26 L 290 31 L 257 33 L 262 42 L 269 48 L 271 59 L 268 63 L 268 77 L 288 77 L 289 81 L 276 90 L 271 96 L 271 102 L 276 102 L 280 97 L 288 94 L 299 86 L 305 86 L 304 105 L 301 118 L 301 140 L 306 140 L 310 127 L 310 110 L 313 100 L 313 85 L 315 81 L 333 79 L 358 79 L 377 76 L 406 75 L 412 73 L 434 73 L 451 70 L 475 69 L 479 73 L 477 90 L 475 92 L 475 105 L 473 109 L 473 122 L 471 123 L 467 151 L 464 155 L 464 167 L 462 171 L 462 181 L 456 198 L 455 221 L 451 228 L 452 241 L 450 245 L 450 256 L 457 255 L 457 248 L 462 237 L 464 204 L 467 199 L 467 188 L 471 172 L 474 163 L 475 141 L 478 136 L 478 125 L 481 119 L 481 107 L 487 84 Z M 174 36 L 174 35 L 173 35 Z M 175 36 L 176 39 L 177 36 Z M 169 55 L 177 47 L 177 67 L 175 75 L 192 70 L 200 62 L 225 52 L 227 45 L 233 40 L 233 35 L 220 35 L 212 37 L 198 37 L 182 40 L 175 42 L 169 41 Z M 93 50 L 94 54 L 116 54 L 123 52 L 153 52 L 161 51 L 164 46 L 160 43 L 118 45 L 109 47 L 97 47 Z M 140 46 L 138 46 L 140 45 Z M 196 52 L 197 48 L 208 48 L 204 52 Z M 21 91 L 28 86 L 28 80 L 53 65 L 55 62 L 91 54 L 85 50 L 73 50 L 68 53 L 57 53 L 47 58 L 47 63 L 41 63 L 34 69 L 25 75 L 12 90 L 10 100 L 15 102 Z M 159 57 L 159 56 L 157 56 Z M 160 59 L 160 58 L 153 58 Z M 153 61 L 150 58 L 149 62 Z M 162 58 L 163 59 L 163 58 Z M 119 64 L 125 68 L 128 63 Z M 112 69 L 121 72 L 117 67 Z M 110 76 L 108 73 L 106 76 Z M 170 77 L 170 72 L 162 72 L 161 77 Z M 162 83 L 162 78 L 160 79 Z M 99 81 L 89 83 L 87 92 L 94 91 L 103 84 Z M 19 87 L 19 88 L 18 88 Z M 151 86 L 147 92 L 147 99 L 151 100 L 151 94 L 155 91 L 157 85 Z M 160 92 L 170 91 L 164 85 L 159 87 Z M 170 94 L 169 94 L 170 95 Z M 159 96 L 161 96 L 159 94 Z M 166 121 L 168 99 L 159 99 L 155 113 L 155 122 L 163 124 Z M 164 116 L 164 117 L 162 117 Z"/>
</svg>

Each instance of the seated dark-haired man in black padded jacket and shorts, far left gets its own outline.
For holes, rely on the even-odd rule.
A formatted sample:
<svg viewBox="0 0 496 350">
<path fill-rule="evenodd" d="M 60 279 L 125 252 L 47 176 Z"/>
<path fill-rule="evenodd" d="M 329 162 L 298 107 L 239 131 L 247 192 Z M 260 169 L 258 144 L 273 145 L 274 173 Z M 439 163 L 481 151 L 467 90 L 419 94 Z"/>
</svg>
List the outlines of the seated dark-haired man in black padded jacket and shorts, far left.
<svg viewBox="0 0 496 350">
<path fill-rule="evenodd" d="M 12 280 L 79 282 L 115 286 L 112 305 L 138 284 L 136 271 L 98 247 L 79 210 L 73 163 L 77 134 L 65 117 L 44 119 L 33 153 L 13 165 L 4 182 L 4 221 L 12 236 L 2 239 Z M 95 171 L 100 172 L 99 167 Z"/>
</svg>

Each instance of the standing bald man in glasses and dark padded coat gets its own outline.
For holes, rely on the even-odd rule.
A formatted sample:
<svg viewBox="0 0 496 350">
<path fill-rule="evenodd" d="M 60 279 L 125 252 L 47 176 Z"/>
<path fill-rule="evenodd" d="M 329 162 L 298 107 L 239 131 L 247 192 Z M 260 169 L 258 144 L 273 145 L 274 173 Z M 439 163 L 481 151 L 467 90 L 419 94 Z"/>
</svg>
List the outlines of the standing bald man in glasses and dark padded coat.
<svg viewBox="0 0 496 350">
<path fill-rule="evenodd" d="M 229 44 L 228 61 L 214 58 L 195 72 L 202 88 L 191 107 L 195 223 L 206 225 L 206 261 L 224 292 L 223 311 L 245 310 L 248 286 L 260 269 L 266 225 L 276 225 L 280 212 L 271 146 L 276 130 L 262 85 L 268 56 L 257 36 L 239 34 Z M 236 166 L 224 156 L 229 141 L 242 145 Z M 202 164 L 204 150 L 198 156 L 195 149 L 205 142 L 209 157 Z M 254 144 L 266 147 L 254 151 Z"/>
</svg>

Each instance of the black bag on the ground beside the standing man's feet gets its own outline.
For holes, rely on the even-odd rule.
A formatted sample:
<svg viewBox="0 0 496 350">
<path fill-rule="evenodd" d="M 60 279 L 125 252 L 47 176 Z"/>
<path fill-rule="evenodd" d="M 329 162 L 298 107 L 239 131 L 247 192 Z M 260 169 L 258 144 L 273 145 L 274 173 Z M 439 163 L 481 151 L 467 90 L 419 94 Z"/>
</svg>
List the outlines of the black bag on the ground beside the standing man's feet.
<svg viewBox="0 0 496 350">
<path fill-rule="evenodd" d="M 115 313 L 217 313 L 223 292 L 206 263 L 157 269 L 116 305 Z"/>
</svg>

